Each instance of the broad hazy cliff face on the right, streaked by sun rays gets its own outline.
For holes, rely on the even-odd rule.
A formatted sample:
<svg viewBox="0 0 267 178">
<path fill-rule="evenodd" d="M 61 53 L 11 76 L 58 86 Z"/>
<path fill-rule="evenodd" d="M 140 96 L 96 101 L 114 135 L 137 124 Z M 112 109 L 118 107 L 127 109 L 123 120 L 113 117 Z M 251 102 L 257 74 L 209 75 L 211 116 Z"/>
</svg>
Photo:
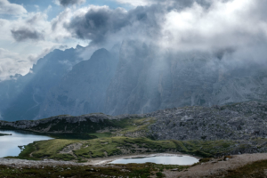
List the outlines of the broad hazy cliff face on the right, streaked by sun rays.
<svg viewBox="0 0 267 178">
<path fill-rule="evenodd" d="M 206 53 L 162 57 L 157 51 L 133 41 L 122 44 L 117 72 L 107 91 L 107 114 L 267 99 L 267 73 L 261 65 L 229 68 Z"/>
</svg>

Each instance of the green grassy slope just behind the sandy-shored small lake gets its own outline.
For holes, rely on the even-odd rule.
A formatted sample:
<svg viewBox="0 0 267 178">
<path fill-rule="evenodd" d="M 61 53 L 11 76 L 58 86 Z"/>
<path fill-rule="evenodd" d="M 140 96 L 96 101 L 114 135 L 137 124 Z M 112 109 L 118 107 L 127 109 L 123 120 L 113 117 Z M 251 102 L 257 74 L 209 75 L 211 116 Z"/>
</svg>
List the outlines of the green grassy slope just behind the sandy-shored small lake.
<svg viewBox="0 0 267 178">
<path fill-rule="evenodd" d="M 71 154 L 61 154 L 64 147 L 72 143 L 82 143 L 80 150 L 73 150 L 76 158 Z M 213 157 L 227 154 L 233 149 L 232 141 L 153 141 L 148 138 L 107 137 L 93 140 L 49 140 L 29 144 L 20 153 L 19 158 L 29 159 L 58 159 L 85 161 L 88 158 L 103 158 L 113 155 L 133 153 L 178 151 L 200 157 Z M 31 157 L 29 155 L 31 154 Z"/>
</svg>

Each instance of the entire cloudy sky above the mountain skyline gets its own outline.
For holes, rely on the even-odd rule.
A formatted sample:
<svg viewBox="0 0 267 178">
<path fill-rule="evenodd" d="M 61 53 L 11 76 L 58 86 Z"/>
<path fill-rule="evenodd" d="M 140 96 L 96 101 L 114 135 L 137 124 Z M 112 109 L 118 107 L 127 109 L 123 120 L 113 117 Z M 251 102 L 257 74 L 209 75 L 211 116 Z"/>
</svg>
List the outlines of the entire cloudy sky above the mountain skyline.
<svg viewBox="0 0 267 178">
<path fill-rule="evenodd" d="M 25 75 L 55 48 L 125 39 L 265 60 L 266 8 L 267 0 L 0 0 L 0 79 Z"/>
</svg>

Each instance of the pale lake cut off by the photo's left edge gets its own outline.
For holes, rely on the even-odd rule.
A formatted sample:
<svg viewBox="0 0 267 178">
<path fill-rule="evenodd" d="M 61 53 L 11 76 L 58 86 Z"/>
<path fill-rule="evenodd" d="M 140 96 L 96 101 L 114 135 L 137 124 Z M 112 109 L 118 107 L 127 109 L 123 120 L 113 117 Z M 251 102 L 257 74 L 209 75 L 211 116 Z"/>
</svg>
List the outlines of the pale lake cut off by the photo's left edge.
<svg viewBox="0 0 267 178">
<path fill-rule="evenodd" d="M 44 141 L 53 139 L 49 136 L 37 135 L 24 131 L 0 130 L 0 134 L 12 134 L 0 136 L 0 158 L 8 156 L 18 156 L 20 154 L 19 146 L 28 145 L 35 141 Z"/>
</svg>

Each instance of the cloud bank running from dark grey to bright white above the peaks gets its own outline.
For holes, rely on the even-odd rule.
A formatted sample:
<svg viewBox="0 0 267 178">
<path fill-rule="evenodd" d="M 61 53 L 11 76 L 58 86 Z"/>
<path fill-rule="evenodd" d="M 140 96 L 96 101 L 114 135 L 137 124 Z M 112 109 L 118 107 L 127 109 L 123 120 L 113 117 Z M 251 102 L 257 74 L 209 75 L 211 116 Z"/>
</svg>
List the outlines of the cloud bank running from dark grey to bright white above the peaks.
<svg viewBox="0 0 267 178">
<path fill-rule="evenodd" d="M 266 40 L 267 25 L 255 24 L 265 24 L 267 13 L 263 6 L 267 0 L 144 2 L 148 5 L 130 11 L 91 6 L 65 22 L 64 28 L 74 37 L 91 40 L 91 44 L 134 39 L 166 50 L 206 51 L 219 59 L 245 45 L 257 44 L 256 39 Z"/>
</svg>

